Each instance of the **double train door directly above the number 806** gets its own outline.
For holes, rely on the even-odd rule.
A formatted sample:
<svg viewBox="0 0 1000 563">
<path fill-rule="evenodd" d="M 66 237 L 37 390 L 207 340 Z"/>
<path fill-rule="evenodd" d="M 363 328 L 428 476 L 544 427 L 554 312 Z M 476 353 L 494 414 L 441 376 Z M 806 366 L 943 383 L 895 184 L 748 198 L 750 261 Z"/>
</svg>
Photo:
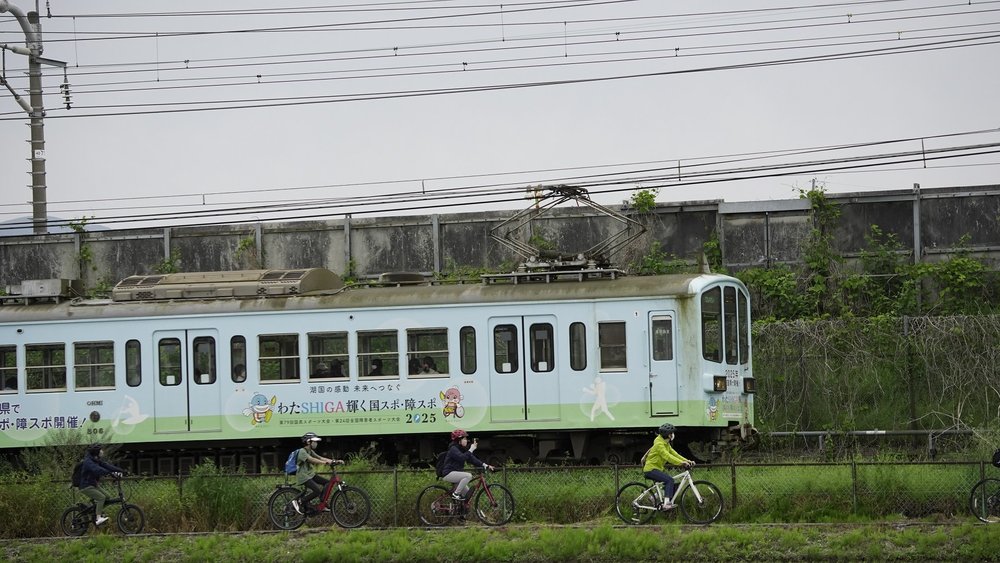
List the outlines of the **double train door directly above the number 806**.
<svg viewBox="0 0 1000 563">
<path fill-rule="evenodd" d="M 214 330 L 153 333 L 155 432 L 218 432 L 222 391 Z"/>
</svg>

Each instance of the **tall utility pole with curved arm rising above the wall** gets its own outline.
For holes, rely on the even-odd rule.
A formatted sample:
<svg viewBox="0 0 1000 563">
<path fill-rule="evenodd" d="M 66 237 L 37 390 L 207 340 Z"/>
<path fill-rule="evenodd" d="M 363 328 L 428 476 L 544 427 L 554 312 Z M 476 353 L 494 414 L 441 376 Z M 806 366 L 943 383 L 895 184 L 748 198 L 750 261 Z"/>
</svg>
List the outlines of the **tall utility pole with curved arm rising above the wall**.
<svg viewBox="0 0 1000 563">
<path fill-rule="evenodd" d="M 27 15 L 9 0 L 0 0 L 0 14 L 10 12 L 24 31 L 25 47 L 0 44 L 0 48 L 19 55 L 28 56 L 28 102 L 14 92 L 6 80 L 2 80 L 14 100 L 31 118 L 31 222 L 36 235 L 48 232 L 48 204 L 45 199 L 45 128 L 43 119 L 45 108 L 42 104 L 42 64 L 66 67 L 66 63 L 42 57 L 42 24 L 35 11 Z"/>
</svg>

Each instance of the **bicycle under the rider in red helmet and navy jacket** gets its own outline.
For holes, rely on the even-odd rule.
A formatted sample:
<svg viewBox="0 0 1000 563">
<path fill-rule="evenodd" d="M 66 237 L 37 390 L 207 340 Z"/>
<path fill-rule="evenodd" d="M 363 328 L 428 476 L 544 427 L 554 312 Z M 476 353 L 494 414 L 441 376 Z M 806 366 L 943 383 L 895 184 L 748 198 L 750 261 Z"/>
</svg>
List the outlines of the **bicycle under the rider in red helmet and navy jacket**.
<svg viewBox="0 0 1000 563">
<path fill-rule="evenodd" d="M 452 497 L 457 485 L 430 485 L 417 497 L 417 516 L 428 526 L 444 526 L 448 522 L 464 520 L 471 507 L 474 514 L 487 526 L 502 526 L 514 517 L 514 495 L 499 483 L 486 481 L 486 470 L 480 469 L 478 477 L 469 483 L 464 499 Z"/>
</svg>

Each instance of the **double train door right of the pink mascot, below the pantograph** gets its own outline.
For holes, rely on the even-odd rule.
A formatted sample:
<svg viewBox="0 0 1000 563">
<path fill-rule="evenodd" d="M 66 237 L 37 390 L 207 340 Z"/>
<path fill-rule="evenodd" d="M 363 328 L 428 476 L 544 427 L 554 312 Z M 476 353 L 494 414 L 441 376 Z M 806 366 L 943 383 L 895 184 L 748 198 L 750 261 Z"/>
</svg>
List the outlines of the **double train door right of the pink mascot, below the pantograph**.
<svg viewBox="0 0 1000 563">
<path fill-rule="evenodd" d="M 556 318 L 493 317 L 489 327 L 490 419 L 559 420 Z"/>
</svg>

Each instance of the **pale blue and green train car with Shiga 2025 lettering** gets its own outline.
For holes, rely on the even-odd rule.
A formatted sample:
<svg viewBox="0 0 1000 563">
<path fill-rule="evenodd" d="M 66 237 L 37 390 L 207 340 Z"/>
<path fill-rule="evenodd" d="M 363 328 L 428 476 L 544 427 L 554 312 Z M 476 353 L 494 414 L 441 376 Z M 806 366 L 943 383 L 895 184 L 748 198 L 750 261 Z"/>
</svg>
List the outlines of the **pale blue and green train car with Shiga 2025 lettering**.
<svg viewBox="0 0 1000 563">
<path fill-rule="evenodd" d="M 709 272 L 517 271 L 464 283 L 325 268 L 131 276 L 108 299 L 0 301 L 0 452 L 100 442 L 131 471 L 430 461 L 456 428 L 493 463 L 626 463 L 662 423 L 749 439 L 750 303 Z"/>
</svg>

